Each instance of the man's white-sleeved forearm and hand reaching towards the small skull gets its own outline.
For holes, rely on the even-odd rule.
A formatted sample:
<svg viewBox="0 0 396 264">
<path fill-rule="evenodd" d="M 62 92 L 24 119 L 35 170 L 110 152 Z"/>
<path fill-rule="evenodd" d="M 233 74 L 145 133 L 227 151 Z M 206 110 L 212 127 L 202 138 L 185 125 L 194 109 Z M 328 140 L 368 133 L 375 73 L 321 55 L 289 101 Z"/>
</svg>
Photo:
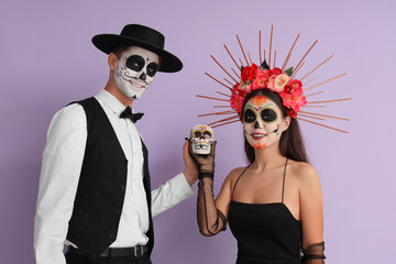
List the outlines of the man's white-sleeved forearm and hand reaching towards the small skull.
<svg viewBox="0 0 396 264">
<path fill-rule="evenodd" d="M 153 217 L 194 195 L 191 185 L 198 179 L 198 168 L 188 153 L 188 141 L 183 146 L 185 169 L 160 188 L 152 190 Z"/>
</svg>

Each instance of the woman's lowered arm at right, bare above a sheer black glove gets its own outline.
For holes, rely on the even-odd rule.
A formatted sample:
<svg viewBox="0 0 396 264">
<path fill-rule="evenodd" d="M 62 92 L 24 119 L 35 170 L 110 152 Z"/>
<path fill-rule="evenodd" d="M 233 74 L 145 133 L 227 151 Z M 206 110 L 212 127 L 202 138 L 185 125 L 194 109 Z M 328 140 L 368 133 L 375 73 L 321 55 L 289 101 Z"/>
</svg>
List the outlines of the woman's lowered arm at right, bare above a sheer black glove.
<svg viewBox="0 0 396 264">
<path fill-rule="evenodd" d="M 299 200 L 302 226 L 302 262 L 324 263 L 323 242 L 323 199 L 319 176 L 308 164 L 301 165 Z"/>
</svg>

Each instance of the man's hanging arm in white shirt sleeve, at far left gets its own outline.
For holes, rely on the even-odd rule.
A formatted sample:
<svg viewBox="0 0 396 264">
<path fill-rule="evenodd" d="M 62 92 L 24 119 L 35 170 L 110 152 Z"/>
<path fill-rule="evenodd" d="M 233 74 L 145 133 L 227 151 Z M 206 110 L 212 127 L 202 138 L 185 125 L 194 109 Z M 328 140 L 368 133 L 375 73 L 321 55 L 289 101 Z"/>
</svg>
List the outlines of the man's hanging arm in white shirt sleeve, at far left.
<svg viewBox="0 0 396 264">
<path fill-rule="evenodd" d="M 48 128 L 34 221 L 37 264 L 66 264 L 63 253 L 87 141 L 78 103 L 58 111 Z"/>
</svg>

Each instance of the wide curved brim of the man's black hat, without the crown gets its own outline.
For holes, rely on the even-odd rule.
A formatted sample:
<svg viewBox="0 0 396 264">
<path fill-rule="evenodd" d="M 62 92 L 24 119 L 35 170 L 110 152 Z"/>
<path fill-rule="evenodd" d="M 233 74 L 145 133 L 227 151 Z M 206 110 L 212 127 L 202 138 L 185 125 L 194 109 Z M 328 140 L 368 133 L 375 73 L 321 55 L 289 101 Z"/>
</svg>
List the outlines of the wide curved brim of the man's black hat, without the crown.
<svg viewBox="0 0 396 264">
<path fill-rule="evenodd" d="M 172 53 L 138 38 L 114 34 L 100 34 L 92 37 L 92 43 L 97 48 L 106 54 L 110 54 L 118 45 L 140 46 L 146 48 L 161 57 L 158 72 L 176 73 L 183 68 L 182 61 Z"/>
</svg>

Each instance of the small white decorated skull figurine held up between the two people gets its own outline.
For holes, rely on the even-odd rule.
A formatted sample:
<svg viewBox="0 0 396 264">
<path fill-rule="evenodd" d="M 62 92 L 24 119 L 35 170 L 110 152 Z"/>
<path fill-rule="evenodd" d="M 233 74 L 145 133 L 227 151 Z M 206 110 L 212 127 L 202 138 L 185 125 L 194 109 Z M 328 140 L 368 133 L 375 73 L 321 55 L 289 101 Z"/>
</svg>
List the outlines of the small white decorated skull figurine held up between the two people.
<svg viewBox="0 0 396 264">
<path fill-rule="evenodd" d="M 190 140 L 195 154 L 210 154 L 210 146 L 213 143 L 213 130 L 209 125 L 197 124 L 191 129 Z"/>
</svg>

